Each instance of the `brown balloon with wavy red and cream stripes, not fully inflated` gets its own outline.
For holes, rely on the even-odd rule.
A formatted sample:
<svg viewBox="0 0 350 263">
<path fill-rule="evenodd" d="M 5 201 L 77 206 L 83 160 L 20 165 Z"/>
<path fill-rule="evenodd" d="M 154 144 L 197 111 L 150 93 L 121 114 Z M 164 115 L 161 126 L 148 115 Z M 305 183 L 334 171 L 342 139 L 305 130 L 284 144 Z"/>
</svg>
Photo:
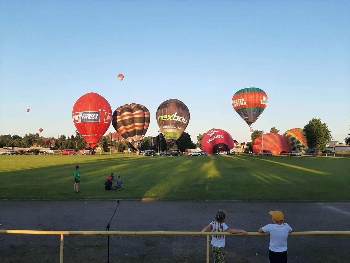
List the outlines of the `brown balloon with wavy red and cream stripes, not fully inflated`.
<svg viewBox="0 0 350 263">
<path fill-rule="evenodd" d="M 149 110 L 141 104 L 125 104 L 114 110 L 112 125 L 124 139 L 138 149 L 148 129 L 150 116 Z"/>
</svg>

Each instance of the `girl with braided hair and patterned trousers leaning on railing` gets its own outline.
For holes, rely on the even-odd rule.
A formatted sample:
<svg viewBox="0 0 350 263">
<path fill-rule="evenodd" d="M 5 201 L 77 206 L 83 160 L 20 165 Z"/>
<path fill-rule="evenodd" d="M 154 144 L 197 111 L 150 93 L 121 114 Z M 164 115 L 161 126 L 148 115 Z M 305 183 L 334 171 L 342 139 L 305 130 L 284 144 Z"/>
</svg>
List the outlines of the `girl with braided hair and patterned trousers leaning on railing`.
<svg viewBox="0 0 350 263">
<path fill-rule="evenodd" d="M 248 235 L 247 231 L 243 229 L 230 229 L 226 223 L 226 213 L 225 211 L 217 211 L 214 221 L 202 229 L 202 232 L 210 231 L 212 232 L 229 232 L 231 234 Z M 196 238 L 199 236 L 196 236 Z M 214 256 L 214 263 L 225 263 L 225 235 L 212 235 L 211 236 L 211 245 Z"/>
</svg>

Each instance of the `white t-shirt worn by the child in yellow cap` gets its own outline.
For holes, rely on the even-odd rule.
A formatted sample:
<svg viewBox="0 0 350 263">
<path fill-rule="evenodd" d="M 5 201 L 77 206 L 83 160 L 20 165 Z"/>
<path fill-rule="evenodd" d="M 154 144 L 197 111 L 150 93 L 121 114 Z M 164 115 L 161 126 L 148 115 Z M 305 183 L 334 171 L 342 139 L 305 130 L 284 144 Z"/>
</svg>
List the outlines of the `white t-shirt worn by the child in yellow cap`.
<svg viewBox="0 0 350 263">
<path fill-rule="evenodd" d="M 267 224 L 265 227 L 262 227 L 265 233 L 270 232 L 269 249 L 271 251 L 283 252 L 287 250 L 288 233 L 292 232 L 292 228 L 287 223 L 285 224 Z"/>
</svg>

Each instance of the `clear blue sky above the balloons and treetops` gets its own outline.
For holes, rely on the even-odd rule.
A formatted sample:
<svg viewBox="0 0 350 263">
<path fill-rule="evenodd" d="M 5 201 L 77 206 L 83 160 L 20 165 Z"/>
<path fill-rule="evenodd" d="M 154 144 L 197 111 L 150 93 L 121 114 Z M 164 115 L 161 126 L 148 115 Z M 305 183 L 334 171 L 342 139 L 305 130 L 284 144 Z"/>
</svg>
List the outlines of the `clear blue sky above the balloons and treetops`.
<svg viewBox="0 0 350 263">
<path fill-rule="evenodd" d="M 0 134 L 75 134 L 72 107 L 96 92 L 112 111 L 144 104 L 146 136 L 158 134 L 159 104 L 179 99 L 194 142 L 211 128 L 249 141 L 231 105 L 247 87 L 268 95 L 253 129 L 283 133 L 320 118 L 334 140 L 349 134 L 349 1 L 1 1 L 0 9 Z"/>
</svg>

